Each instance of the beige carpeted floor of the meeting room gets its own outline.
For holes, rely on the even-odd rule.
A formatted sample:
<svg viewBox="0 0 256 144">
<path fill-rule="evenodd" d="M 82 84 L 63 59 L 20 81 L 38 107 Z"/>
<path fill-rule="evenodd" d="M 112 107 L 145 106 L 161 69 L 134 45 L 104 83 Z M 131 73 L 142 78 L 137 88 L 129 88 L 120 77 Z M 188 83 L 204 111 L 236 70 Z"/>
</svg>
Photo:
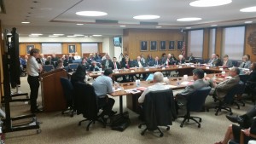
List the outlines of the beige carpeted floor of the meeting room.
<svg viewBox="0 0 256 144">
<path fill-rule="evenodd" d="M 26 77 L 21 80 L 20 91 L 30 92 Z M 15 90 L 15 89 L 13 89 Z M 115 99 L 114 110 L 119 110 L 119 98 Z M 41 104 L 41 93 L 39 93 L 38 103 Z M 212 97 L 207 97 L 206 105 L 212 105 Z M 85 124 L 78 125 L 79 121 L 84 119 L 82 115 L 75 115 L 70 118 L 67 115 L 61 115 L 61 112 L 42 112 L 37 117 L 43 124 L 40 125 L 42 132 L 37 134 L 36 130 L 24 130 L 11 132 L 5 135 L 6 144 L 84 144 L 84 143 L 112 143 L 112 144 L 131 144 L 131 143 L 180 143 L 180 144 L 208 144 L 220 141 L 224 137 L 224 132 L 228 125 L 231 124 L 225 118 L 227 112 L 220 112 L 218 116 L 214 115 L 213 110 L 210 112 L 192 112 L 202 118 L 201 128 L 197 128 L 194 122 L 184 124 L 180 128 L 181 118 L 178 118 L 171 126 L 171 130 L 164 131 L 164 136 L 159 137 L 158 132 L 146 132 L 140 135 L 142 130 L 137 126 L 140 124 L 138 115 L 131 112 L 126 107 L 124 96 L 124 109 L 130 112 L 131 125 L 123 132 L 111 130 L 109 127 L 102 128 L 101 124 L 93 124 L 89 131 L 85 130 Z M 246 107 L 240 110 L 232 107 L 235 115 L 246 112 L 253 107 L 251 101 L 247 101 Z M 2 107 L 3 108 L 3 107 Z M 4 108 L 3 108 L 4 109 Z M 29 113 L 30 107 L 24 102 L 15 102 L 11 104 L 11 115 L 17 116 Z M 184 111 L 182 110 L 183 113 Z"/>
</svg>

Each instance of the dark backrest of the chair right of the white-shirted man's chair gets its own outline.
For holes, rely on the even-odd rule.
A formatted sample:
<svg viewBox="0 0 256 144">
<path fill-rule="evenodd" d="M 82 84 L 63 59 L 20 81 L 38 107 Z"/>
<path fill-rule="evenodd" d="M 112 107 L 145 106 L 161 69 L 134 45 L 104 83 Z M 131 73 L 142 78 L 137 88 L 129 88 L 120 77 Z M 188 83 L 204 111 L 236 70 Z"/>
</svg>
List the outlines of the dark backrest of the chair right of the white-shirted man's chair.
<svg viewBox="0 0 256 144">
<path fill-rule="evenodd" d="M 207 95 L 209 95 L 210 91 L 211 87 L 203 87 L 195 90 L 195 92 L 188 97 L 187 109 L 195 112 L 201 111 L 201 108 L 204 106 Z"/>
</svg>

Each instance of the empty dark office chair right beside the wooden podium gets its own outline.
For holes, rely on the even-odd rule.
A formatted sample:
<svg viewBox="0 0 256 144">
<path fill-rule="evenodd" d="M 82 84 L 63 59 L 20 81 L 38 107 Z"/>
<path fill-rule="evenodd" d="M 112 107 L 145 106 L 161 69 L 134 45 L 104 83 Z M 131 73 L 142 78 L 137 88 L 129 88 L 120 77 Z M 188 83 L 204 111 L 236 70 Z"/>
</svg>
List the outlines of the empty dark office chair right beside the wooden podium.
<svg viewBox="0 0 256 144">
<path fill-rule="evenodd" d="M 61 77 L 61 86 L 63 89 L 65 99 L 67 101 L 67 108 L 63 110 L 61 114 L 64 114 L 68 111 L 71 112 L 70 117 L 73 117 L 73 85 L 67 78 Z"/>
</svg>

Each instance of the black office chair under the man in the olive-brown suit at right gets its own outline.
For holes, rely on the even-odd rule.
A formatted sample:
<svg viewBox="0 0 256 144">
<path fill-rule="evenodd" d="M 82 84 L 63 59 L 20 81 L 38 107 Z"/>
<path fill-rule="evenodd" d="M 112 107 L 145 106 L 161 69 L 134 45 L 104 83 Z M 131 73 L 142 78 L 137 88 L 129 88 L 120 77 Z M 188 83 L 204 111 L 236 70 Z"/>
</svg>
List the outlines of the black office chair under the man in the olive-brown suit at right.
<svg viewBox="0 0 256 144">
<path fill-rule="evenodd" d="M 239 89 L 239 84 L 236 84 L 232 89 L 230 89 L 230 92 L 225 95 L 224 101 L 219 101 L 217 98 L 215 98 L 215 101 L 218 101 L 218 106 L 213 106 L 213 107 L 207 107 L 207 112 L 209 112 L 209 109 L 216 109 L 215 115 L 218 115 L 218 112 L 221 112 L 221 110 L 226 110 L 230 112 L 230 115 L 233 114 L 231 107 L 228 105 L 236 105 L 238 109 L 240 109 L 240 106 L 236 101 L 234 101 L 234 97 L 237 94 Z"/>
</svg>

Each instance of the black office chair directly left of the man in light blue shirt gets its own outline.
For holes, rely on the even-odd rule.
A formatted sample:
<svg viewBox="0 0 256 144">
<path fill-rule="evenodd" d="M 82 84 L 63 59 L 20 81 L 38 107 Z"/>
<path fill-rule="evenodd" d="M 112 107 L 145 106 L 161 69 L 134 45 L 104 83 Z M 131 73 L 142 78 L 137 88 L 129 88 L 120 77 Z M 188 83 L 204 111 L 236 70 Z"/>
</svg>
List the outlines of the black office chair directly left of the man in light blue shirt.
<svg viewBox="0 0 256 144">
<path fill-rule="evenodd" d="M 83 114 L 84 120 L 79 121 L 79 125 L 84 121 L 90 121 L 87 124 L 86 130 L 89 130 L 90 124 L 95 124 L 96 121 L 103 124 L 106 127 L 103 118 L 98 115 L 99 107 L 96 102 L 96 94 L 93 86 L 90 84 L 84 84 L 78 82 L 74 86 L 74 107 L 77 110 L 77 114 Z"/>
</svg>

